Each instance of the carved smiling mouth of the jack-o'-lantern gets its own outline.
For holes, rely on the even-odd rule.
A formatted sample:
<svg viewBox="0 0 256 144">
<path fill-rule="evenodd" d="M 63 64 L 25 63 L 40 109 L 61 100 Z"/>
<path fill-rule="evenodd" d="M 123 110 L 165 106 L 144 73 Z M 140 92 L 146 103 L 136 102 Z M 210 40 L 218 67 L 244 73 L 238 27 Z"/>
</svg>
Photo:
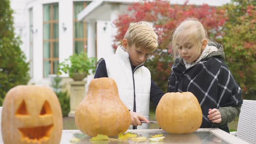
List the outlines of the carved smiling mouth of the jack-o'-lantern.
<svg viewBox="0 0 256 144">
<path fill-rule="evenodd" d="M 33 128 L 18 128 L 23 141 L 41 142 L 47 141 L 53 129 L 53 124 Z"/>
</svg>

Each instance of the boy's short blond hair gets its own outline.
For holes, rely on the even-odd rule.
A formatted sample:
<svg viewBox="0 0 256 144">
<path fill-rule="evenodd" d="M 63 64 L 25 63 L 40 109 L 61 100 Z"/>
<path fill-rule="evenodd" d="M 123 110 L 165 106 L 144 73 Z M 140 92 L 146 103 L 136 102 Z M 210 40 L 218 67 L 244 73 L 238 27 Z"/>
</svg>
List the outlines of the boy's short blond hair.
<svg viewBox="0 0 256 144">
<path fill-rule="evenodd" d="M 141 48 L 148 52 L 154 52 L 158 47 L 158 36 L 153 27 L 145 21 L 132 24 L 125 33 L 124 38 L 128 40 L 128 46 L 134 44 L 136 48 Z"/>
</svg>

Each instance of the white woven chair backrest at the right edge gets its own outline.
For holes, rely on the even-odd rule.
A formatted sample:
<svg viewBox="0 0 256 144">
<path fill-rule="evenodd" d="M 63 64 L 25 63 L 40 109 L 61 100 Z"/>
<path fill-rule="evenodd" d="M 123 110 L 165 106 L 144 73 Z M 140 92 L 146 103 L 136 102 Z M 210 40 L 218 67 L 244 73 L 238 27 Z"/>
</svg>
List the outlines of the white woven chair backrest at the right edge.
<svg viewBox="0 0 256 144">
<path fill-rule="evenodd" d="M 256 101 L 243 100 L 236 137 L 256 144 Z"/>
</svg>

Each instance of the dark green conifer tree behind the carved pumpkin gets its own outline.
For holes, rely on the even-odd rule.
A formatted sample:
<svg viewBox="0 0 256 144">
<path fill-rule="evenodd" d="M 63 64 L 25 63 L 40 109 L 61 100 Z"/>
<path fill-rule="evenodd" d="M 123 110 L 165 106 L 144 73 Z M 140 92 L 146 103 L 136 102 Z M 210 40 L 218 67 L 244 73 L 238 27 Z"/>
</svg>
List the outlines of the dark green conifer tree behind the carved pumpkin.
<svg viewBox="0 0 256 144">
<path fill-rule="evenodd" d="M 29 81 L 29 64 L 20 49 L 20 38 L 15 36 L 13 10 L 10 0 L 0 3 L 0 105 L 6 93 L 16 85 Z"/>
</svg>

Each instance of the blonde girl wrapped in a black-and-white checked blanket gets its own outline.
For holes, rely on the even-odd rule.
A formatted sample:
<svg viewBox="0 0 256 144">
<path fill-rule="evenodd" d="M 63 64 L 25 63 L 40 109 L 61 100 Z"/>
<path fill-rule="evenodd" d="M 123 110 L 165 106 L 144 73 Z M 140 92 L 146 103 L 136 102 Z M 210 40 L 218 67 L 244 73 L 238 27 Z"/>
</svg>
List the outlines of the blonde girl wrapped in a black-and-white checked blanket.
<svg viewBox="0 0 256 144">
<path fill-rule="evenodd" d="M 172 36 L 174 65 L 167 92 L 192 92 L 198 99 L 203 122 L 200 128 L 220 128 L 240 113 L 242 90 L 224 63 L 223 47 L 207 39 L 196 19 L 184 20 Z"/>
</svg>

